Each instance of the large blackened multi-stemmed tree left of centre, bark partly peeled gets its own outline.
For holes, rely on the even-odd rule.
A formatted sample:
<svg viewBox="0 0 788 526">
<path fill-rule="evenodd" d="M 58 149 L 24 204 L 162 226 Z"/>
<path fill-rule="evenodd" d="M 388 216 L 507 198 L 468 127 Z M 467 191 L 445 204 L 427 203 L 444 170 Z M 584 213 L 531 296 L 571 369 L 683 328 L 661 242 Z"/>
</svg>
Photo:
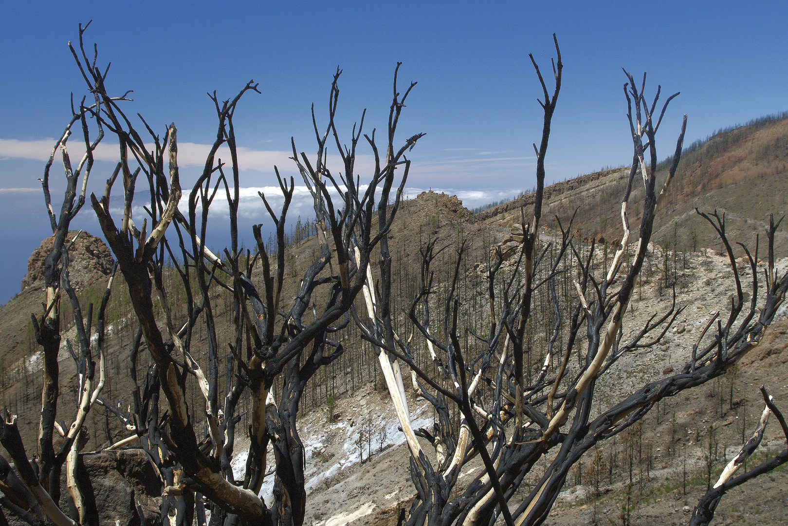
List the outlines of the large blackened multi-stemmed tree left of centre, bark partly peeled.
<svg viewBox="0 0 788 526">
<path fill-rule="evenodd" d="M 95 80 L 97 89 L 103 94 L 103 80 L 98 70 L 92 69 L 91 75 Z M 300 166 L 306 166 L 306 173 L 310 185 L 319 194 L 325 214 L 322 216 L 324 235 L 321 244 L 321 253 L 303 275 L 299 283 L 296 299 L 292 306 L 284 307 L 282 289 L 284 285 L 284 255 L 286 240 L 284 225 L 288 206 L 292 200 L 294 181 L 279 178 L 281 191 L 284 195 L 284 204 L 281 213 L 277 215 L 269 206 L 265 196 L 262 200 L 269 211 L 277 230 L 276 266 L 269 260 L 266 245 L 262 240 L 261 227 L 255 227 L 255 239 L 258 253 L 252 259 L 247 252 L 242 255 L 237 246 L 237 211 L 239 203 L 239 166 L 236 159 L 236 138 L 232 127 L 232 116 L 236 104 L 245 91 L 255 90 L 256 85 L 247 84 L 239 95 L 232 101 L 219 103 L 214 95 L 214 103 L 219 120 L 217 140 L 206 159 L 203 175 L 189 196 L 188 218 L 179 215 L 175 207 L 180 194 L 179 177 L 177 171 L 177 146 L 174 127 L 170 127 L 167 135 L 158 146 L 153 156 L 143 150 L 141 140 L 135 138 L 128 120 L 122 117 L 121 110 L 111 106 L 101 118 L 106 118 L 112 123 L 111 129 L 117 133 L 121 142 L 121 165 L 124 163 L 125 149 L 128 148 L 136 157 L 139 167 L 146 173 L 151 196 L 154 196 L 156 206 L 151 207 L 151 219 L 154 229 L 149 237 L 145 236 L 146 228 L 137 230 L 133 225 L 130 214 L 124 214 L 124 223 L 117 229 L 109 213 L 109 192 L 111 181 L 107 185 L 105 197 L 98 200 L 92 198 L 93 207 L 102 223 L 102 230 L 109 241 L 110 247 L 116 253 L 121 272 L 129 285 L 132 304 L 142 327 L 143 338 L 146 341 L 151 356 L 154 358 L 158 369 L 158 381 L 168 400 L 169 419 L 166 421 L 168 431 L 162 433 L 162 438 L 168 442 L 169 450 L 173 451 L 184 470 L 182 491 L 199 491 L 214 504 L 214 513 L 211 521 L 221 521 L 225 517 L 225 524 L 234 524 L 241 521 L 244 524 L 253 521 L 262 521 L 266 524 L 301 524 L 306 503 L 303 478 L 303 445 L 301 444 L 296 427 L 296 416 L 299 399 L 314 372 L 325 364 L 329 364 L 342 353 L 341 346 L 329 338 L 330 333 L 340 330 L 346 321 L 343 316 L 351 307 L 355 296 L 362 289 L 365 282 L 366 266 L 369 264 L 370 252 L 380 241 L 381 236 L 372 235 L 372 211 L 378 188 L 382 188 L 382 200 L 388 200 L 388 188 L 392 187 L 397 177 L 397 170 L 402 173 L 400 190 L 407 179 L 409 162 L 404 159 L 403 153 L 408 147 L 413 147 L 420 135 L 413 136 L 400 148 L 400 153 L 389 155 L 385 162 L 377 159 L 375 172 L 366 189 L 353 181 L 353 172 L 349 171 L 338 177 L 334 176 L 328 166 L 325 166 L 325 142 L 329 132 L 336 134 L 334 116 L 339 95 L 337 80 L 340 72 L 336 73 L 330 94 L 329 125 L 325 133 L 321 134 L 317 128 L 318 157 L 316 162 L 310 162 L 307 155 L 301 154 L 300 159 L 295 156 Z M 411 85 L 412 88 L 412 85 Z M 410 89 L 408 90 L 410 91 Z M 400 96 L 396 91 L 391 106 L 388 126 L 389 142 L 394 140 L 397 118 L 403 108 L 403 101 L 407 96 Z M 120 117 L 118 117 L 120 116 Z M 122 125 L 125 125 L 125 131 Z M 108 125 L 109 126 L 109 125 Z M 354 130 L 353 150 L 345 151 L 345 168 L 352 170 L 355 162 L 355 144 L 359 140 L 362 125 L 359 125 L 358 135 Z M 374 148 L 374 133 L 370 144 Z M 226 144 L 230 151 L 229 168 L 232 170 L 232 183 L 225 176 L 228 166 L 215 159 L 218 148 Z M 294 147 L 295 150 L 295 147 Z M 167 151 L 169 155 L 169 184 L 162 173 L 164 166 L 163 156 Z M 313 169 L 312 166 L 315 166 Z M 121 166 L 123 173 L 131 170 Z M 214 174 L 218 173 L 216 182 L 212 182 Z M 125 176 L 125 210 L 131 209 L 128 196 L 133 196 L 135 176 Z M 329 184 L 333 188 L 329 188 Z M 207 215 L 211 201 L 220 188 L 224 188 L 230 210 L 230 228 L 232 247 L 225 250 L 225 258 L 214 255 L 205 246 L 205 233 Z M 336 193 L 341 196 L 341 206 L 334 203 Z M 400 193 L 396 196 L 398 202 Z M 198 218 L 198 206 L 202 209 Z M 158 208 L 158 217 L 153 212 Z M 152 213 L 151 213 L 152 212 Z M 392 217 L 396 213 L 392 211 Z M 191 262 L 191 266 L 198 280 L 199 309 L 190 306 L 188 320 L 181 326 L 173 325 L 169 315 L 166 301 L 166 291 L 158 280 L 151 280 L 148 274 L 151 266 L 161 268 L 164 260 L 164 248 L 172 255 L 169 244 L 163 237 L 167 222 L 176 219 L 183 228 L 178 229 L 180 249 L 183 261 Z M 125 226 L 125 230 L 123 229 Z M 185 239 L 184 239 L 185 238 Z M 351 239 L 359 248 L 360 259 L 356 263 L 351 258 Z M 136 241 L 136 249 L 134 243 Z M 161 244 L 160 244 L 161 242 Z M 191 244 L 191 252 L 186 248 Z M 333 245 L 333 246 L 332 246 Z M 157 250 L 158 246 L 158 250 Z M 242 259 L 245 256 L 245 259 Z M 173 257 L 173 260 L 176 258 Z M 251 269 L 259 259 L 262 264 L 262 293 L 251 281 Z M 335 260 L 333 272 L 326 273 L 329 262 Z M 243 263 L 246 263 L 244 266 Z M 359 272 L 359 269 L 361 271 Z M 191 278 L 188 265 L 178 269 L 183 278 L 187 297 L 191 300 L 195 293 L 191 292 Z M 160 270 L 159 270 L 160 272 Z M 221 275 L 232 278 L 232 285 L 220 283 Z M 228 279 L 229 279 L 228 278 Z M 238 380 L 225 396 L 224 411 L 219 411 L 217 401 L 217 367 L 215 328 L 210 311 L 210 283 L 220 283 L 228 287 L 233 293 L 233 322 L 236 326 L 235 345 L 231 345 L 232 358 L 236 360 Z M 153 288 L 156 288 L 166 319 L 166 330 L 169 340 L 165 341 L 158 320 L 153 312 Z M 323 294 L 325 300 L 322 312 L 314 310 L 313 297 L 317 299 L 316 291 L 327 289 Z M 314 318 L 307 322 L 304 319 L 307 309 L 313 308 Z M 209 366 L 207 375 L 196 363 L 189 353 L 191 343 L 191 330 L 197 317 L 203 315 L 205 328 L 208 333 Z M 242 356 L 245 349 L 246 356 Z M 327 352 L 327 349 L 333 349 Z M 182 356 L 183 361 L 173 355 Z M 198 440 L 186 407 L 185 382 L 188 375 L 193 375 L 206 398 L 205 415 L 209 428 L 209 437 Z M 281 401 L 274 401 L 271 396 L 273 382 L 284 374 L 284 390 Z M 229 458 L 232 452 L 225 452 L 225 444 L 232 444 L 232 431 L 237 423 L 235 405 L 240 394 L 248 389 L 251 396 L 251 425 L 250 438 L 251 450 L 249 453 L 246 474 L 243 481 L 236 483 L 229 468 Z M 225 436 L 227 437 L 225 441 Z M 202 442 L 202 443 L 201 443 Z M 266 476 L 266 450 L 271 443 L 276 457 L 275 486 L 273 500 L 275 504 L 268 509 L 262 499 L 258 497 L 263 479 Z M 184 524 L 189 524 L 189 513 L 184 519 Z M 215 519 L 214 519 L 215 517 Z"/>
</svg>

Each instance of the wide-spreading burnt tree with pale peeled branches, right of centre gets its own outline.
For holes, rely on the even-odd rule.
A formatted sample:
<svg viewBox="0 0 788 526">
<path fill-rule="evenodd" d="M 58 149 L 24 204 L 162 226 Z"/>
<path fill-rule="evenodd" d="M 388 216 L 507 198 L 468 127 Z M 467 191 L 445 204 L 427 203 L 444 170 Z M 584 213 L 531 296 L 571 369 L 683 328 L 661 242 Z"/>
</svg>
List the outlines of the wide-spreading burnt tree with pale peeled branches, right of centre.
<svg viewBox="0 0 788 526">
<path fill-rule="evenodd" d="M 597 396 L 597 382 L 615 377 L 619 358 L 636 349 L 650 349 L 667 332 L 682 308 L 673 307 L 659 319 L 653 315 L 649 322 L 630 341 L 623 339 L 623 315 L 648 250 L 652 234 L 654 212 L 660 199 L 667 192 L 682 152 L 686 129 L 686 115 L 675 147 L 667 177 L 656 191 L 656 132 L 660 127 L 671 95 L 659 114 L 656 105 L 660 88 L 649 105 L 645 99 L 645 75 L 640 88 L 634 78 L 624 85 L 634 155 L 626 191 L 622 196 L 621 221 L 623 238 L 613 263 L 602 275 L 592 270 L 594 248 L 588 257 L 571 237 L 571 222 L 562 227 L 563 235 L 556 247 L 555 263 L 548 265 L 545 254 L 549 244 L 539 239 L 542 198 L 545 179 L 545 154 L 556 99 L 561 86 L 562 64 L 556 41 L 557 63 L 553 65 L 555 89 L 550 95 L 536 62 L 532 62 L 545 95 L 541 106 L 545 110 L 545 123 L 541 146 L 537 151 L 537 190 L 534 215 L 526 223 L 522 219 L 522 249 L 514 273 L 502 278 L 499 272 L 503 263 L 500 251 L 490 263 L 488 330 L 485 334 L 471 335 L 483 349 L 481 354 L 463 356 L 466 350 L 460 345 L 458 326 L 459 302 L 455 293 L 460 275 L 460 260 L 464 245 L 457 251 L 453 280 L 447 285 L 448 294 L 443 307 L 443 326 L 438 335 L 430 330 L 430 294 L 434 293 L 430 264 L 437 256 L 434 243 L 422 249 L 422 292 L 414 299 L 407 313 L 414 326 L 426 338 L 429 353 L 437 370 L 437 377 L 426 374 L 417 366 L 411 353 L 411 338 L 398 338 L 392 329 L 392 315 L 386 299 L 391 291 L 391 276 L 381 268 L 381 300 L 374 297 L 374 282 L 368 278 L 365 289 L 368 320 L 356 316 L 363 337 L 376 345 L 381 367 L 387 380 L 389 394 L 397 410 L 407 444 L 411 452 L 411 473 L 416 497 L 411 505 L 407 524 L 493 524 L 501 514 L 507 524 L 518 526 L 541 524 L 548 517 L 552 505 L 567 481 L 571 467 L 589 449 L 605 438 L 626 430 L 641 420 L 657 401 L 674 396 L 683 390 L 699 386 L 719 375 L 752 349 L 764 330 L 771 323 L 788 289 L 788 274 L 780 279 L 774 272 L 773 237 L 775 227 L 767 231 L 769 239 L 768 286 L 761 297 L 760 314 L 756 308 L 758 297 L 757 251 L 749 258 L 753 270 L 753 294 L 749 309 L 742 311 L 742 284 L 724 229 L 724 220 L 705 216 L 716 227 L 727 247 L 738 300 L 731 305 L 727 322 L 718 323 L 716 334 L 710 334 L 708 343 L 693 353 L 692 360 L 676 375 L 649 382 L 634 391 L 623 401 L 605 407 L 604 397 Z M 630 255 L 630 222 L 627 214 L 634 185 L 643 185 L 643 214 L 637 230 L 634 255 Z M 560 225 L 560 222 L 559 222 Z M 388 259 L 386 245 L 381 243 L 381 261 Z M 745 248 L 746 250 L 746 248 Z M 562 319 L 559 300 L 554 291 L 554 280 L 563 273 L 559 262 L 563 256 L 576 260 L 579 279 L 574 283 L 578 300 L 569 311 L 570 319 Z M 523 381 L 523 362 L 527 349 L 524 336 L 526 325 L 532 321 L 533 294 L 541 287 L 550 287 L 555 326 L 545 353 L 545 362 L 531 385 Z M 500 311 L 496 311 L 496 293 L 501 295 Z M 363 319 L 362 319 L 363 318 Z M 566 324 L 566 327 L 562 326 Z M 434 327 L 434 325 L 433 325 Z M 559 331 L 566 331 L 563 349 L 556 345 Z M 707 327 L 708 330 L 708 327 Z M 585 333 L 585 349 L 581 340 Z M 704 331 L 705 334 L 705 331 Z M 702 339 L 702 337 L 701 337 Z M 699 341 L 700 343 L 700 341 Z M 572 370 L 569 361 L 574 353 L 582 353 L 580 367 Z M 556 367 L 552 367 L 557 360 Z M 392 366 L 393 361 L 393 366 Z M 433 431 L 414 429 L 407 414 L 403 382 L 398 362 L 402 361 L 414 372 L 417 393 L 429 401 L 437 413 Z M 479 394 L 480 384 L 489 386 Z M 456 405 L 461 423 L 455 426 L 449 417 L 448 401 Z M 421 436 L 435 448 L 436 464 L 432 464 L 417 440 Z M 450 498 L 459 472 L 470 458 L 481 456 L 485 471 L 481 472 L 459 496 Z M 543 472 L 535 473 L 537 461 L 548 462 Z M 519 492 L 526 476 L 535 477 L 533 488 Z M 512 506 L 510 508 L 510 505 Z"/>
</svg>

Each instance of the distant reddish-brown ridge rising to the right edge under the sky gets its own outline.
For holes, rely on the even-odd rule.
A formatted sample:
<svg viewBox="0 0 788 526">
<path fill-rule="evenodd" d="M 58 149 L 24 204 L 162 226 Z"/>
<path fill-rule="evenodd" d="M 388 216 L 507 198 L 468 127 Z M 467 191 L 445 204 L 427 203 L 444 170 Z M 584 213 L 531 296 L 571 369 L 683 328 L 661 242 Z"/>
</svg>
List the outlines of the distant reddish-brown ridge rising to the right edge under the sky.
<svg viewBox="0 0 788 526">
<path fill-rule="evenodd" d="M 674 181 L 657 210 L 652 240 L 671 244 L 679 251 L 722 247 L 716 232 L 695 213 L 717 210 L 726 214 L 731 238 L 750 248 L 768 225 L 788 213 L 788 118 L 762 118 L 748 125 L 720 131 L 705 141 L 685 148 Z M 604 170 L 545 187 L 545 223 L 555 228 L 555 215 L 566 224 L 577 208 L 574 229 L 584 238 L 608 242 L 620 239 L 620 196 L 626 188 L 629 167 Z M 667 174 L 660 163 L 658 185 Z M 637 177 L 640 177 L 639 173 Z M 634 185 L 632 200 L 641 197 Z M 492 207 L 476 215 L 486 224 L 509 218 L 519 222 L 519 209 L 533 205 L 533 194 Z M 640 216 L 637 205 L 630 208 L 630 224 Z M 516 216 L 516 218 L 515 218 Z M 526 214 L 526 220 L 528 218 Z M 763 236 L 761 236 L 763 239 Z M 737 250 L 740 250 L 737 247 Z M 775 239 L 775 252 L 788 254 L 788 234 L 783 226 Z M 742 255 L 742 254 L 740 254 Z"/>
</svg>

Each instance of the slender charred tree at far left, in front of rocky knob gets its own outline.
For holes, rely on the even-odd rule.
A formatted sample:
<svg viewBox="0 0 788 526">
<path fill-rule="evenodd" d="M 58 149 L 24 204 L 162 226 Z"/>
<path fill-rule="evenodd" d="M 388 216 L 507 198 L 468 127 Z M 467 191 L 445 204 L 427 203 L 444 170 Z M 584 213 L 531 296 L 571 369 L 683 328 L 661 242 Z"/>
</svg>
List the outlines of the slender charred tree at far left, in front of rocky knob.
<svg viewBox="0 0 788 526">
<path fill-rule="evenodd" d="M 104 137 L 104 129 L 99 124 L 97 133 L 91 140 L 88 120 L 102 104 L 97 96 L 94 99 L 95 103 L 87 106 L 85 105 L 86 99 L 82 99 L 78 108 L 72 104 L 72 119 L 52 148 L 49 160 L 44 167 L 43 178 L 39 180 L 52 227 L 53 244 L 44 263 L 46 300 L 43 302 L 43 315 L 36 318 L 35 314 L 32 314 L 35 339 L 41 345 L 43 353 L 43 389 L 37 441 L 39 463 L 36 464 L 36 469 L 33 469 L 28 461 L 17 428 L 16 416 L 8 414 L 7 419 L 0 423 L 0 442 L 12 457 L 18 474 L 17 477 L 10 470 L 5 459 L 0 461 L 3 466 L 3 483 L 0 489 L 6 495 L 5 498 L 0 499 L 0 504 L 6 505 L 7 509 L 28 524 L 40 524 L 48 519 L 58 526 L 63 526 L 77 524 L 77 522 L 82 523 L 87 518 L 84 488 L 80 487 L 76 479 L 76 455 L 84 442 L 83 424 L 85 418 L 91 406 L 99 398 L 105 382 L 105 312 L 110 300 L 112 278 L 106 287 L 97 312 L 94 344 L 91 338 L 93 334 L 91 331 L 93 304 L 87 305 L 87 312 L 84 316 L 82 313 L 84 306 L 80 304 L 69 280 L 69 248 L 79 237 L 81 231 L 76 233 L 70 243 L 66 237 L 72 219 L 76 217 L 84 205 L 87 181 L 94 163 L 93 152 Z M 125 100 L 125 95 L 111 100 Z M 78 127 L 82 132 L 85 149 L 76 168 L 72 166 L 67 148 L 74 127 Z M 56 214 L 50 194 L 50 168 L 58 152 L 65 169 L 66 186 L 60 213 Z M 82 177 L 81 187 L 80 177 Z M 76 414 L 70 425 L 66 425 L 63 421 L 61 423 L 56 421 L 60 395 L 58 353 L 61 349 L 61 320 L 59 316 L 60 301 L 64 299 L 64 296 L 69 299 L 77 335 L 76 353 L 72 349 L 71 342 L 65 341 L 65 346 L 76 363 L 78 383 Z M 99 353 L 99 382 L 94 384 L 96 364 L 93 358 L 96 350 Z M 63 438 L 58 453 L 55 453 L 54 450 L 55 430 Z M 72 505 L 74 505 L 76 517 L 68 517 L 58 508 L 64 464 L 66 466 L 66 487 Z"/>
</svg>

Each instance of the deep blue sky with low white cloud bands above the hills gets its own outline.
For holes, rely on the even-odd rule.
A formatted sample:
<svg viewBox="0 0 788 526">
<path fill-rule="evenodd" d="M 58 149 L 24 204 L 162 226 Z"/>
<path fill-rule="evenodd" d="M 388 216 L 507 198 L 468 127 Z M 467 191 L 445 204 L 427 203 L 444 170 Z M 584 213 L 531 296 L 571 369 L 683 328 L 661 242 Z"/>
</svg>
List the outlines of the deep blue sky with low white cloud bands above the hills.
<svg viewBox="0 0 788 526">
<path fill-rule="evenodd" d="M 400 136 L 427 133 L 411 154 L 411 192 L 459 192 L 469 207 L 513 196 L 534 184 L 531 144 L 541 133 L 541 88 L 528 54 L 549 73 L 553 32 L 564 69 L 548 182 L 629 162 L 622 67 L 636 78 L 649 73 L 647 94 L 656 84 L 663 94 L 682 92 L 661 129 L 660 159 L 675 145 L 684 113 L 689 143 L 788 110 L 785 2 L 166 3 L 6 3 L 0 301 L 18 291 L 27 257 L 50 234 L 37 179 L 70 116 L 70 93 L 84 94 L 67 43 L 91 19 L 85 38 L 98 43 L 99 64 L 112 62 L 110 91 L 134 90 L 128 114 L 143 114 L 157 131 L 175 122 L 179 142 L 194 144 L 194 159 L 181 155 L 187 183 L 198 170 L 188 163 L 215 136 L 207 91 L 229 98 L 247 80 L 260 83 L 262 95 L 247 94 L 236 111 L 236 134 L 247 151 L 241 185 L 266 187 L 273 163 L 293 170 L 291 136 L 299 151 L 314 151 L 310 104 L 325 118 L 337 65 L 344 69 L 340 126 L 349 132 L 365 107 L 367 129 L 385 129 L 400 61 L 400 82 L 418 80 Z M 112 170 L 107 152 L 91 176 L 94 191 Z M 61 188 L 60 173 L 53 189 Z M 250 197 L 246 223 L 253 222 L 266 218 Z M 87 207 L 75 226 L 99 234 Z"/>
</svg>

